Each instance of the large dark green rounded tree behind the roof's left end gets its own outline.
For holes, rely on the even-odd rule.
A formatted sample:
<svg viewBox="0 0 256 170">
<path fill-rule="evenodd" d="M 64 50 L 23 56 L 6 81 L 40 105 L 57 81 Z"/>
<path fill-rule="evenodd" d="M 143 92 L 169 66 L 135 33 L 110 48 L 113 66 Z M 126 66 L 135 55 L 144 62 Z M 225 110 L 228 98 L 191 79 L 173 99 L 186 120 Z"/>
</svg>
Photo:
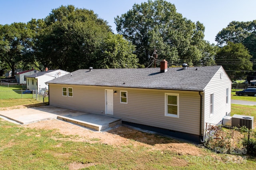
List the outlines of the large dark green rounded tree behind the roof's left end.
<svg viewBox="0 0 256 170">
<path fill-rule="evenodd" d="M 37 36 L 34 56 L 44 67 L 74 71 L 88 68 L 99 42 L 111 31 L 92 10 L 72 5 L 52 10 L 43 21 L 32 20 Z"/>
</svg>

